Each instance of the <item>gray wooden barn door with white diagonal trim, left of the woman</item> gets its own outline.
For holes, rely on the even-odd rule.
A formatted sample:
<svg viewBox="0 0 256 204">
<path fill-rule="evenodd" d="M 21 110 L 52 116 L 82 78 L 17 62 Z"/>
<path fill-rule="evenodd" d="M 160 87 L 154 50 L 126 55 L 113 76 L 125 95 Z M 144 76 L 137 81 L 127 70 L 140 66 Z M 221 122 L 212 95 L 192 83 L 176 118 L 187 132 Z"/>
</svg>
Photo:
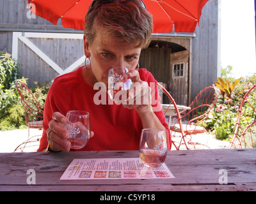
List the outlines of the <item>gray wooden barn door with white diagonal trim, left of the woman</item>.
<svg viewBox="0 0 256 204">
<path fill-rule="evenodd" d="M 83 34 L 13 32 L 12 41 L 13 58 L 29 87 L 52 82 L 84 64 Z"/>
</svg>

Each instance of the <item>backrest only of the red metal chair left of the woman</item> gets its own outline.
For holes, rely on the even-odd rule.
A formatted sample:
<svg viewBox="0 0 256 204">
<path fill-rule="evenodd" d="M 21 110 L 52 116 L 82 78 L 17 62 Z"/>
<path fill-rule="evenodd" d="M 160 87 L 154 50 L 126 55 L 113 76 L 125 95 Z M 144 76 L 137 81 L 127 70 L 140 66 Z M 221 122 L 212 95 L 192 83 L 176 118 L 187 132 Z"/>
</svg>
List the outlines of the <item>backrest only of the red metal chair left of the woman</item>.
<svg viewBox="0 0 256 204">
<path fill-rule="evenodd" d="M 38 128 L 38 126 L 42 126 L 44 106 L 40 105 L 35 96 L 23 82 L 17 81 L 16 87 L 20 94 L 21 104 L 24 107 L 27 126 L 30 128 Z"/>
</svg>

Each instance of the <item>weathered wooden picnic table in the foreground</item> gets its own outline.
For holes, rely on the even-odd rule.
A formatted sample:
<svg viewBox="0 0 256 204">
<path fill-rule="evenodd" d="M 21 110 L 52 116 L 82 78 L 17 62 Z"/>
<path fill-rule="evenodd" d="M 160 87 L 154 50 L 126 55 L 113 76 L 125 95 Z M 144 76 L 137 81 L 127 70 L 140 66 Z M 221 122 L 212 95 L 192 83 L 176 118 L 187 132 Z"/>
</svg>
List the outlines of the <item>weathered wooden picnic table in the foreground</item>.
<svg viewBox="0 0 256 204">
<path fill-rule="evenodd" d="M 139 152 L 1 153 L 0 191 L 256 190 L 256 149 L 168 151 L 165 164 L 175 179 L 60 180 L 73 159 L 122 157 L 139 157 Z M 35 170 L 35 184 L 27 183 L 28 170 Z"/>
</svg>

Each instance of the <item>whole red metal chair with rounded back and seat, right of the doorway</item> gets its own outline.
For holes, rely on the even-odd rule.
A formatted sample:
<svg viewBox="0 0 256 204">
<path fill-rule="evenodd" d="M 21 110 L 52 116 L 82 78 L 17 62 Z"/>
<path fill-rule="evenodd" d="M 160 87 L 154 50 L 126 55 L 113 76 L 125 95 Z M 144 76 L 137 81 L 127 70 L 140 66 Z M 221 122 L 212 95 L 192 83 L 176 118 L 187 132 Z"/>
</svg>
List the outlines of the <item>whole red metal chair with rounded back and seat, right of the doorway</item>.
<svg viewBox="0 0 256 204">
<path fill-rule="evenodd" d="M 182 133 L 182 138 L 184 138 L 184 140 L 186 139 L 187 142 L 182 143 L 181 141 L 177 146 L 178 149 L 180 149 L 181 145 L 185 145 L 186 149 L 190 149 L 189 147 L 192 147 L 193 149 L 199 149 L 200 146 L 201 149 L 204 149 L 205 147 L 209 148 L 205 144 L 193 142 L 192 135 L 205 133 L 205 128 L 200 126 L 200 124 L 202 124 L 202 122 L 208 118 L 209 113 L 216 104 L 217 99 L 218 93 L 212 86 L 205 87 L 202 91 L 200 91 L 193 102 L 189 105 L 191 109 L 183 110 L 180 112 L 182 129 L 180 128 L 180 125 L 177 124 L 179 115 L 172 116 L 170 131 L 173 133 L 182 133 L 183 131 L 184 133 Z M 175 136 L 175 134 L 173 135 Z"/>
</svg>

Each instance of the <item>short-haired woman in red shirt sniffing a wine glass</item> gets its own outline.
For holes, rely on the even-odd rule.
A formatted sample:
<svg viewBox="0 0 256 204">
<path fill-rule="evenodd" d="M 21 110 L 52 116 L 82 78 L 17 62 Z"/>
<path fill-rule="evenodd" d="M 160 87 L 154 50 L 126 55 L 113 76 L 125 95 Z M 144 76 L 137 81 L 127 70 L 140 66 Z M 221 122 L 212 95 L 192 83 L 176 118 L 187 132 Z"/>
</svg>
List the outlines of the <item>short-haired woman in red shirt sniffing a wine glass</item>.
<svg viewBox="0 0 256 204">
<path fill-rule="evenodd" d="M 170 147 L 168 124 L 161 110 L 153 111 L 151 98 L 148 104 L 96 105 L 93 101 L 98 92 L 93 86 L 97 82 L 107 85 L 108 70 L 116 66 L 127 68 L 128 78 L 143 93 L 152 91 L 149 84 L 157 83 L 154 77 L 146 69 L 136 69 L 151 33 L 152 17 L 140 0 L 93 1 L 84 25 L 84 54 L 90 63 L 57 77 L 51 85 L 38 151 L 46 150 L 47 143 L 51 152 L 70 150 L 68 131 L 63 128 L 68 110 L 90 113 L 94 136 L 81 150 L 138 150 L 143 128 L 164 129 Z M 140 97 L 143 101 L 146 96 Z"/>
</svg>

